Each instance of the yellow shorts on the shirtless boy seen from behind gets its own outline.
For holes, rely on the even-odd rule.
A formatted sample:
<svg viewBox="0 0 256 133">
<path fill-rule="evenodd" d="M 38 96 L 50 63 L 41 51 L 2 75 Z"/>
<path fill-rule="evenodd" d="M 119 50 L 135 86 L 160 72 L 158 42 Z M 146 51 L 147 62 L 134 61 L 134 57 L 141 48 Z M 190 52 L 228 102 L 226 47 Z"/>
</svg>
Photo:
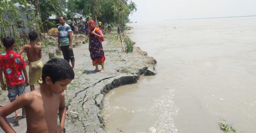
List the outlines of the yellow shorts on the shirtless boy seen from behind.
<svg viewBox="0 0 256 133">
<path fill-rule="evenodd" d="M 31 65 L 29 65 L 29 85 L 38 85 L 38 83 L 42 84 L 42 69 L 43 64 L 41 60 L 31 62 Z"/>
</svg>

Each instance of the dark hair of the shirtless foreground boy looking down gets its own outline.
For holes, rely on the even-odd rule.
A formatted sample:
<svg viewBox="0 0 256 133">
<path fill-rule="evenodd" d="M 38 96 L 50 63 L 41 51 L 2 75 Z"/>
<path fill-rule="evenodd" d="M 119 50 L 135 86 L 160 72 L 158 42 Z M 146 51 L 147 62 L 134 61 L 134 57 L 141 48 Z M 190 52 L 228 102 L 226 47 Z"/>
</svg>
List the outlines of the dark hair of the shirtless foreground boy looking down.
<svg viewBox="0 0 256 133">
<path fill-rule="evenodd" d="M 47 61 L 42 70 L 43 82 L 45 82 L 46 77 L 50 77 L 53 84 L 56 81 L 65 80 L 67 78 L 74 79 L 74 76 L 74 71 L 69 62 L 61 58 Z"/>
</svg>

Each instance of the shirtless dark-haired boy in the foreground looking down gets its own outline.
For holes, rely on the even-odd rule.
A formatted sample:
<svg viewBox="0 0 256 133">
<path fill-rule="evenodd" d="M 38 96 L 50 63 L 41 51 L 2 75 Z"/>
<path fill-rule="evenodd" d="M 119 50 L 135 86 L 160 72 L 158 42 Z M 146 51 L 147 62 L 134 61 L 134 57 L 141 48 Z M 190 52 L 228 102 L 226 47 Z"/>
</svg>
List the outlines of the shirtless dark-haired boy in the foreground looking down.
<svg viewBox="0 0 256 133">
<path fill-rule="evenodd" d="M 14 102 L 0 109 L 0 126 L 5 132 L 15 132 L 6 116 L 25 107 L 27 133 L 62 133 L 66 116 L 64 91 L 74 79 L 74 71 L 66 60 L 56 58 L 45 63 L 42 79 L 43 83 L 39 88 L 20 95 Z"/>
</svg>

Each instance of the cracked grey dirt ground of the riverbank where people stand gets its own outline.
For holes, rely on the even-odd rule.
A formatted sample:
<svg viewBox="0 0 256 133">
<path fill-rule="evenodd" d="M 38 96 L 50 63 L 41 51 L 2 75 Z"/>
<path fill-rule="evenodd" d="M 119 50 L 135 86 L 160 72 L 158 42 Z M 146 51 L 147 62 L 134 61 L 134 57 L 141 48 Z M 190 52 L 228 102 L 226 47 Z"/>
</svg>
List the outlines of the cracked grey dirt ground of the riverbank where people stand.
<svg viewBox="0 0 256 133">
<path fill-rule="evenodd" d="M 67 116 L 65 122 L 64 132 L 104 132 L 103 118 L 100 113 L 102 108 L 103 95 L 108 90 L 115 87 L 137 83 L 139 76 L 135 73 L 143 67 L 154 67 L 153 58 L 149 58 L 145 52 L 141 51 L 138 47 L 134 47 L 134 52 L 122 54 L 122 50 L 117 44 L 105 39 L 102 43 L 105 53 L 105 72 L 99 73 L 92 72 L 95 67 L 92 65 L 88 51 L 88 43 L 82 44 L 73 48 L 75 56 L 75 79 L 72 80 L 66 94 Z M 56 47 L 51 47 L 51 50 Z M 118 56 L 118 52 L 121 57 Z M 63 58 L 63 56 L 58 56 Z M 43 52 L 42 63 L 48 61 L 48 54 Z M 101 70 L 101 66 L 99 66 Z M 27 68 L 28 70 L 28 68 Z M 38 86 L 36 86 L 38 87 Z M 29 87 L 26 87 L 26 92 L 29 92 Z M 6 105 L 9 102 L 7 98 L 7 91 L 1 91 L 0 99 L 1 104 Z M 78 114 L 70 113 L 76 112 Z M 22 110 L 19 109 L 19 113 Z M 15 114 L 7 117 L 11 126 L 16 132 L 26 132 L 26 118 L 20 119 L 19 124 L 12 123 Z M 0 132 L 3 132 L 0 129 Z"/>
</svg>

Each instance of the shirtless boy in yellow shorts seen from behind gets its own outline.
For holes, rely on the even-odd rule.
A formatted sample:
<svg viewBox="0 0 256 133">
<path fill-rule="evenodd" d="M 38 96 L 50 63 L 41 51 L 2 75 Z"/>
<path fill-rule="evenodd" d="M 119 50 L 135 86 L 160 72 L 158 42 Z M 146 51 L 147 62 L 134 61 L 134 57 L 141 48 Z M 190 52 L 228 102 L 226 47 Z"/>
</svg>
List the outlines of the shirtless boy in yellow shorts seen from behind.
<svg viewBox="0 0 256 133">
<path fill-rule="evenodd" d="M 42 68 L 43 64 L 41 62 L 42 57 L 42 47 L 41 43 L 39 42 L 38 45 L 35 44 L 37 41 L 38 34 L 35 31 L 30 31 L 28 33 L 29 38 L 29 45 L 24 45 L 18 54 L 22 54 L 23 51 L 26 51 L 29 65 L 29 85 L 30 91 L 35 90 L 34 85 L 41 85 L 42 84 Z"/>
</svg>

